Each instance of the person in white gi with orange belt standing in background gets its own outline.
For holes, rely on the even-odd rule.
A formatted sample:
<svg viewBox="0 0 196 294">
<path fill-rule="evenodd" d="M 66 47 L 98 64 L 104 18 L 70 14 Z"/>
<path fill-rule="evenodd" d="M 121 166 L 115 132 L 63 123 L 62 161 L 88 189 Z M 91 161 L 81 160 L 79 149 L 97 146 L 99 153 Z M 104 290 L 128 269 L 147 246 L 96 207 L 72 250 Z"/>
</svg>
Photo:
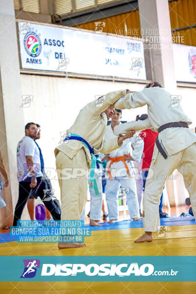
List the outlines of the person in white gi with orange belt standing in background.
<svg viewBox="0 0 196 294">
<path fill-rule="evenodd" d="M 115 109 L 112 116 L 111 124 L 106 127 L 104 138 L 111 140 L 116 137 L 113 132 L 115 125 L 120 124 L 122 110 Z M 133 145 L 133 152 L 130 155 L 130 147 Z M 136 181 L 133 174 L 133 161 L 139 162 L 142 157 L 144 142 L 136 134 L 123 142 L 123 146 L 116 149 L 108 155 L 106 171 L 108 170 L 110 178 L 106 184 L 106 201 L 109 213 L 109 222 L 114 222 L 119 219 L 118 212 L 118 190 L 121 187 L 126 192 L 126 202 L 130 219 L 133 221 L 140 220 L 139 203 L 137 197 Z M 111 171 L 111 172 L 110 172 Z"/>
</svg>

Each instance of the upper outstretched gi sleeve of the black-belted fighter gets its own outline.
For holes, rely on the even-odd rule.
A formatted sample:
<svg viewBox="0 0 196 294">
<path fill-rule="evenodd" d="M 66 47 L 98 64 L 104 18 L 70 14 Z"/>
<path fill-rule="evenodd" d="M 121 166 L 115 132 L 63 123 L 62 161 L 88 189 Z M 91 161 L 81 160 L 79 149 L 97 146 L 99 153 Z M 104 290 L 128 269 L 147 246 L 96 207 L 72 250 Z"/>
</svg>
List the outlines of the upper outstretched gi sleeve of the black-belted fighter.
<svg viewBox="0 0 196 294">
<path fill-rule="evenodd" d="M 149 88 L 145 88 L 143 91 L 136 93 L 126 94 L 123 98 L 120 98 L 115 103 L 116 109 L 130 109 L 137 108 L 147 104 L 147 98 L 149 96 Z"/>
</svg>

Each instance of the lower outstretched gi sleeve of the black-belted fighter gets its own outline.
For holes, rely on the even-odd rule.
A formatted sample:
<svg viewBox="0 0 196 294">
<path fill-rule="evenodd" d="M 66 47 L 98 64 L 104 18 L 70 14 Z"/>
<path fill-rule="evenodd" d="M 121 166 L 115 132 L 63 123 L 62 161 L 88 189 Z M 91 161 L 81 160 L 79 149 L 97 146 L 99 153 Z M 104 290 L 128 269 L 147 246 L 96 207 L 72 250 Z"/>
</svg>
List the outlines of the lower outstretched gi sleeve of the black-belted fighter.
<svg viewBox="0 0 196 294">
<path fill-rule="evenodd" d="M 135 130 L 135 131 L 142 131 L 144 129 L 148 129 L 152 127 L 151 123 L 149 122 L 149 119 L 146 119 L 144 121 L 132 121 L 128 123 L 121 123 L 119 125 L 116 125 L 114 127 L 114 134 L 116 136 L 125 133 L 128 130 Z"/>
</svg>

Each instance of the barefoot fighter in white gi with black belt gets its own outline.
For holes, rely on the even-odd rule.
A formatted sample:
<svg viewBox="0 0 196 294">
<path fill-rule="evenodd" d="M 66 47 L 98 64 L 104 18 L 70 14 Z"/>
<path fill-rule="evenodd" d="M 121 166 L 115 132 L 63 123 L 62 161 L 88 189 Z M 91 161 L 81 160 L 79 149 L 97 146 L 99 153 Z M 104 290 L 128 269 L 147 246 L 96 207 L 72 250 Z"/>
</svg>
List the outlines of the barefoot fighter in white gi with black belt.
<svg viewBox="0 0 196 294">
<path fill-rule="evenodd" d="M 160 229 L 160 197 L 166 176 L 175 169 L 183 175 L 196 217 L 196 134 L 188 128 L 192 122 L 184 114 L 180 102 L 157 82 L 148 84 L 140 92 L 129 91 L 115 103 L 115 108 L 130 109 L 146 104 L 147 120 L 128 122 L 114 128 L 116 135 L 130 129 L 142 130 L 150 127 L 159 132 L 150 165 L 154 172 L 153 178 L 147 177 L 144 192 L 145 233 L 135 242 L 152 241 L 152 232 Z"/>
</svg>

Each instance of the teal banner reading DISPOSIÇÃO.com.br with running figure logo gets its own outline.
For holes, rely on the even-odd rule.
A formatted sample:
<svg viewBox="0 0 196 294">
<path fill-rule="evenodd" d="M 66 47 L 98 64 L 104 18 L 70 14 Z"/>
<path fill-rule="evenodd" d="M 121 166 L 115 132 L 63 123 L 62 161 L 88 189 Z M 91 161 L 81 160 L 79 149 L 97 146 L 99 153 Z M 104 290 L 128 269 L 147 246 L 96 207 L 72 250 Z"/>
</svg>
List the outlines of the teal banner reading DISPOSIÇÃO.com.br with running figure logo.
<svg viewBox="0 0 196 294">
<path fill-rule="evenodd" d="M 196 281 L 196 256 L 1 256 L 0 264 L 0 281 Z"/>
</svg>

